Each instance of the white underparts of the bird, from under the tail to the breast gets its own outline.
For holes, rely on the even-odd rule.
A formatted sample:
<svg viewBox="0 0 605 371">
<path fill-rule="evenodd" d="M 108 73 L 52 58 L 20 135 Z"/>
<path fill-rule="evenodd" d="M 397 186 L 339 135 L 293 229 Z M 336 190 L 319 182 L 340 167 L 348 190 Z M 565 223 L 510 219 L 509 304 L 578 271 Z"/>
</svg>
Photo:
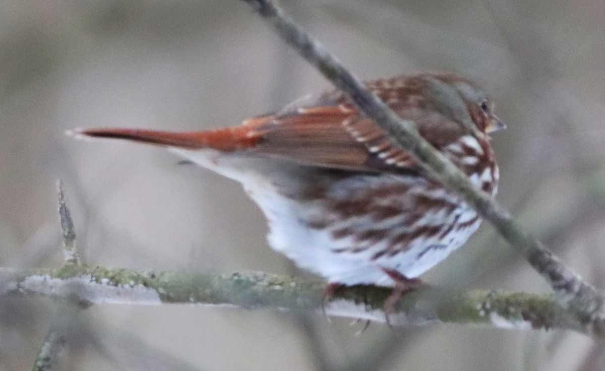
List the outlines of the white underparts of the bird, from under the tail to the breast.
<svg viewBox="0 0 605 371">
<path fill-rule="evenodd" d="M 443 225 L 439 233 L 433 237 L 414 238 L 396 254 L 376 257 L 376 253 L 388 249 L 388 240 L 360 243 L 356 241 L 355 235 L 334 238 L 333 234 L 339 229 L 347 228 L 379 228 L 395 237 L 405 233 L 405 218 L 413 212 L 411 206 L 406 206 L 405 201 L 401 201 L 407 196 L 395 195 L 394 197 L 398 198 L 382 197 L 373 200 L 377 208 L 400 202 L 402 208 L 409 209 L 408 214 L 403 212 L 377 222 L 371 215 L 338 220 L 338 215 L 326 211 L 321 201 L 312 198 L 300 200 L 289 195 L 288 191 L 296 194 L 300 184 L 321 183 L 327 188 L 330 197 L 347 200 L 350 194 L 355 194 L 359 189 L 380 186 L 384 183 L 384 178 L 358 175 L 331 182 L 326 181 L 329 177 L 325 174 L 315 179 L 317 174 L 313 169 L 290 163 L 230 157 L 212 151 L 177 149 L 177 152 L 201 166 L 242 183 L 267 217 L 270 246 L 295 261 L 300 268 L 315 272 L 329 282 L 393 286 L 393 281 L 382 268 L 395 269 L 408 278 L 417 277 L 459 248 L 480 224 L 480 219 L 476 218 L 477 215 L 472 209 L 460 204 L 456 197 L 437 189 L 434 191 L 434 197 L 445 197 L 457 205 L 449 212 L 436 209 L 422 213 L 422 223 Z M 399 184 L 402 180 L 393 177 L 392 182 Z M 410 180 L 411 192 L 424 191 L 422 182 L 425 180 L 418 182 Z M 316 220 L 329 220 L 330 223 L 325 228 L 310 228 Z M 469 223 L 465 228 L 450 228 L 448 231 L 448 225 L 462 222 Z M 342 251 L 335 252 L 339 250 Z"/>
</svg>

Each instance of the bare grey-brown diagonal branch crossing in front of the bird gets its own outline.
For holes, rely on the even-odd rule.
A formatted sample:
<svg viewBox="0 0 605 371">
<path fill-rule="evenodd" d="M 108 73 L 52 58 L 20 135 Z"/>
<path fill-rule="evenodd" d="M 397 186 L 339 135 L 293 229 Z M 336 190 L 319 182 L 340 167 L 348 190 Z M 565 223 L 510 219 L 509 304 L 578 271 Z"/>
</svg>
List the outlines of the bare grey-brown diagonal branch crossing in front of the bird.
<svg viewBox="0 0 605 371">
<path fill-rule="evenodd" d="M 523 231 L 511 215 L 489 195 L 477 189 L 453 163 L 440 154 L 418 133 L 413 122 L 402 120 L 361 81 L 347 71 L 317 41 L 310 38 L 283 10 L 270 0 L 243 0 L 256 10 L 302 57 L 349 94 L 359 109 L 385 130 L 396 142 L 500 232 L 506 241 L 525 256 L 531 266 L 551 284 L 558 303 L 573 312 L 578 320 L 601 332 L 605 330 L 605 297 L 584 282 L 536 238 Z"/>
</svg>

